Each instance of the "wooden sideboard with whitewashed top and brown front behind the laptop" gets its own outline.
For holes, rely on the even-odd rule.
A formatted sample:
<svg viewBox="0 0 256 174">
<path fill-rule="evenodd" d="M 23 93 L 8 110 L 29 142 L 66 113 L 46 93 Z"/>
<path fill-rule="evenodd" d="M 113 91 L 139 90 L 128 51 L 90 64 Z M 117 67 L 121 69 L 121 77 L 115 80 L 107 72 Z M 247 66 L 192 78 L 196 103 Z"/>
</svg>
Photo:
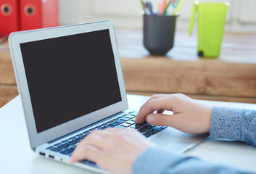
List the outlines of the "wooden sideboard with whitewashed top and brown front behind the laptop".
<svg viewBox="0 0 256 174">
<path fill-rule="evenodd" d="M 144 49 L 141 30 L 117 30 L 128 94 L 183 93 L 194 99 L 256 103 L 256 33 L 225 33 L 220 57 L 197 57 L 197 36 L 177 31 L 166 57 Z M 17 96 L 7 41 L 0 43 L 0 107 Z"/>
</svg>

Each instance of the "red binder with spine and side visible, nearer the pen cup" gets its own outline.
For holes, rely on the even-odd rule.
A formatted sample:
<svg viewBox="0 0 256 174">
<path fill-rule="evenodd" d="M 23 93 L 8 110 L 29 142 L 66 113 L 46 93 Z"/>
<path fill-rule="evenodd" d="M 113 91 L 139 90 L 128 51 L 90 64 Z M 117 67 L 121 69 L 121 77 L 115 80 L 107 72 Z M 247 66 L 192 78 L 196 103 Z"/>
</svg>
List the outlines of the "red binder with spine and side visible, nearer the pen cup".
<svg viewBox="0 0 256 174">
<path fill-rule="evenodd" d="M 20 0 L 20 30 L 59 25 L 58 0 Z"/>
</svg>

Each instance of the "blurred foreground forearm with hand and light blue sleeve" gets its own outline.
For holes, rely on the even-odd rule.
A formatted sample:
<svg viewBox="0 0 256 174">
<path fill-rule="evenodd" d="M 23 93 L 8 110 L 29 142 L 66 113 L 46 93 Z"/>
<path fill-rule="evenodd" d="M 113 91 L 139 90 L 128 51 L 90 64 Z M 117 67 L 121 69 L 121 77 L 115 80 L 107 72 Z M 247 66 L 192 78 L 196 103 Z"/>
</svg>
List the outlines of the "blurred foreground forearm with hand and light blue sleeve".
<svg viewBox="0 0 256 174">
<path fill-rule="evenodd" d="M 95 130 L 78 144 L 70 162 L 89 159 L 111 173 L 242 173 L 162 149 L 131 129 Z"/>
</svg>

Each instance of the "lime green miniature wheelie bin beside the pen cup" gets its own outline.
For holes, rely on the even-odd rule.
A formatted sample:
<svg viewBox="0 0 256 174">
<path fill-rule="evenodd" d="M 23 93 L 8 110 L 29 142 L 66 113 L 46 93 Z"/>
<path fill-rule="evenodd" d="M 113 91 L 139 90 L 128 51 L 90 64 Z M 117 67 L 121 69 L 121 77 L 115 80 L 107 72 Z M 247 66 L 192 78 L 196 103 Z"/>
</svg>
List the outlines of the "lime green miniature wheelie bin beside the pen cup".
<svg viewBox="0 0 256 174">
<path fill-rule="evenodd" d="M 197 13 L 198 55 L 217 58 L 226 23 L 227 2 L 194 1 L 189 22 L 189 36 L 192 34 Z"/>
</svg>

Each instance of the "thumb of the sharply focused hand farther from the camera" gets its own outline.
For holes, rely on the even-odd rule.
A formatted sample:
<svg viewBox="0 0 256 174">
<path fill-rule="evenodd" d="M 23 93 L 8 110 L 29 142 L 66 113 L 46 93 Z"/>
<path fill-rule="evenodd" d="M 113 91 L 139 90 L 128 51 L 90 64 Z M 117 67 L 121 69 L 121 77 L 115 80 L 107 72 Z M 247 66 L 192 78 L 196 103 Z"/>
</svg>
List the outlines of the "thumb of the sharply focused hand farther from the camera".
<svg viewBox="0 0 256 174">
<path fill-rule="evenodd" d="M 151 125 L 167 125 L 173 126 L 175 119 L 178 116 L 176 115 L 165 115 L 165 114 L 149 114 L 146 116 L 146 122 Z"/>
</svg>

